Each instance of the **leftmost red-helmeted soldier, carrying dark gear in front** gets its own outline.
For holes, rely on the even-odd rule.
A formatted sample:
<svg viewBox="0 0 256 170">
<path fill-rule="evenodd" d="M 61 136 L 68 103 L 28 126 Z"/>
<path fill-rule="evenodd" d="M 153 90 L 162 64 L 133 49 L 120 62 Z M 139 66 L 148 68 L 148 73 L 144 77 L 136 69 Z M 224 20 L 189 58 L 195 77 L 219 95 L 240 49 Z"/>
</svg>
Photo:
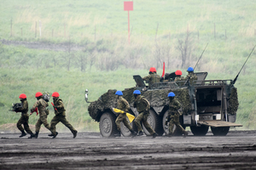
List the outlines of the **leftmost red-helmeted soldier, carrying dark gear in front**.
<svg viewBox="0 0 256 170">
<path fill-rule="evenodd" d="M 18 111 L 21 112 L 21 116 L 20 116 L 19 121 L 17 122 L 17 127 L 21 131 L 20 138 L 23 137 L 23 136 L 26 136 L 26 133 L 29 133 L 30 137 L 28 137 L 28 139 L 32 139 L 34 137 L 34 134 L 30 130 L 29 125 L 28 125 L 29 116 L 27 114 L 28 104 L 27 104 L 27 101 L 26 101 L 26 94 L 20 94 L 19 98 L 20 98 L 20 101 L 21 101 L 21 104 L 22 104 L 22 108 L 18 109 Z M 24 128 L 21 126 L 22 124 L 23 124 Z M 25 133 L 24 129 L 26 130 L 26 133 Z"/>
</svg>

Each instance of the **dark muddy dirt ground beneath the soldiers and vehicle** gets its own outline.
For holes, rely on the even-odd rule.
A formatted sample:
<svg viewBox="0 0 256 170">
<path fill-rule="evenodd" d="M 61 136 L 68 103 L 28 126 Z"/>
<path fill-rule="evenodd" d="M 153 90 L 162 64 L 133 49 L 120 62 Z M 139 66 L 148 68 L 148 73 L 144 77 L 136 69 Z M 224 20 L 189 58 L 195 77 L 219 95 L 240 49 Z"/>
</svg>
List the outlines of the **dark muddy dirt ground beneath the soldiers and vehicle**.
<svg viewBox="0 0 256 170">
<path fill-rule="evenodd" d="M 1 133 L 0 169 L 255 169 L 256 131 L 225 137 L 102 138 L 100 133 L 59 133 L 50 139 Z"/>
</svg>

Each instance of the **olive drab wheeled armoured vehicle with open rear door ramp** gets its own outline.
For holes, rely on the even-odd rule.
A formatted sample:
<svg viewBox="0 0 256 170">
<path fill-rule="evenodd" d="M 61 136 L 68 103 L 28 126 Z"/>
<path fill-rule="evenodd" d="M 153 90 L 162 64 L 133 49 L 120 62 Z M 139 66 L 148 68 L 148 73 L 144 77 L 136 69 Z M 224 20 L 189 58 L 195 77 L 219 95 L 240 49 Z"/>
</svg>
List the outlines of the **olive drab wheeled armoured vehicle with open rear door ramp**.
<svg viewBox="0 0 256 170">
<path fill-rule="evenodd" d="M 177 100 L 181 103 L 182 109 L 180 122 L 183 127 L 190 127 L 194 135 L 206 135 L 211 127 L 213 135 L 226 135 L 230 127 L 241 127 L 236 124 L 236 111 L 238 109 L 237 89 L 232 80 L 206 80 L 207 72 L 196 72 L 198 77 L 193 85 L 189 81 L 178 82 L 158 82 L 148 87 L 143 82 L 142 77 L 133 76 L 136 87 L 125 88 L 123 97 L 131 105 L 130 114 L 137 116 L 137 109 L 134 108 L 133 91 L 138 89 L 141 95 L 148 99 L 150 111 L 148 123 L 159 135 L 168 133 L 166 127 L 166 116 L 168 115 L 169 99 L 168 93 L 176 94 Z M 166 80 L 174 79 L 175 74 L 166 74 Z M 178 86 L 178 84 L 184 84 Z M 103 137 L 113 136 L 117 133 L 115 119 L 118 116 L 113 111 L 116 107 L 115 89 L 109 89 L 106 94 L 96 101 L 90 102 L 88 111 L 92 119 L 100 122 L 100 132 Z M 85 100 L 88 102 L 88 91 L 85 91 Z M 136 129 L 136 126 L 131 123 Z M 177 130 L 175 133 L 178 135 Z M 147 129 L 143 127 L 144 133 L 149 135 Z M 121 125 L 121 133 L 130 136 L 131 132 L 124 125 Z"/>
</svg>

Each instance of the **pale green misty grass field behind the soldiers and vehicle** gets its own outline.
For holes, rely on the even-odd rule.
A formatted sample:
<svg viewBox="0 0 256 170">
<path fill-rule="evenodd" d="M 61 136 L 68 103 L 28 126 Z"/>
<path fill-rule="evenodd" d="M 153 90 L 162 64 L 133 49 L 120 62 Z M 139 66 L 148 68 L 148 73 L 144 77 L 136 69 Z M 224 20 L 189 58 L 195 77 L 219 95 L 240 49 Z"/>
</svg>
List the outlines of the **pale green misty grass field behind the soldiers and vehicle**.
<svg viewBox="0 0 256 170">
<path fill-rule="evenodd" d="M 45 50 L 0 43 L 0 124 L 19 119 L 19 114 L 8 109 L 19 102 L 21 93 L 27 94 L 32 106 L 36 92 L 58 91 L 67 105 L 67 119 L 96 130 L 84 102 L 86 88 L 94 100 L 109 88 L 133 87 L 132 75 L 145 76 L 151 66 L 161 72 L 164 61 L 166 72 L 180 69 L 185 74 L 207 43 L 196 71 L 208 71 L 208 79 L 233 79 L 256 44 L 253 0 L 133 2 L 129 44 L 123 1 L 2 1 L 1 40 L 66 44 L 67 48 Z M 75 45 L 84 48 L 76 50 Z M 237 122 L 251 129 L 256 128 L 255 57 L 254 51 L 236 82 Z M 36 119 L 30 118 L 32 123 Z"/>
</svg>

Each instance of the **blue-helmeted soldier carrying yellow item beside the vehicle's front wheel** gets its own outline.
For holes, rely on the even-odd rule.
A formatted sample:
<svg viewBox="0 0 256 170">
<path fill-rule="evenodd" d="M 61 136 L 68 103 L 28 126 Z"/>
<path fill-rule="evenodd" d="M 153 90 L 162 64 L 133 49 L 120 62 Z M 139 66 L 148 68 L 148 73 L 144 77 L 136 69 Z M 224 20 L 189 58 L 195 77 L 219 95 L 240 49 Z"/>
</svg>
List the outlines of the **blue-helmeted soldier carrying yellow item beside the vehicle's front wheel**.
<svg viewBox="0 0 256 170">
<path fill-rule="evenodd" d="M 121 91 L 117 91 L 115 93 L 115 95 L 117 95 L 117 108 L 121 111 L 128 112 L 130 109 L 130 105 L 129 105 L 128 101 L 122 97 L 123 93 Z M 121 136 L 121 134 L 120 134 L 120 123 L 121 122 L 124 122 L 125 127 L 127 127 L 131 131 L 132 137 L 137 135 L 137 133 L 134 130 L 132 130 L 132 127 L 129 124 L 129 122 L 126 120 L 125 113 L 123 113 L 123 114 L 120 113 L 119 116 L 115 120 L 115 124 L 119 131 L 119 133 L 114 134 L 115 137 Z"/>
</svg>

